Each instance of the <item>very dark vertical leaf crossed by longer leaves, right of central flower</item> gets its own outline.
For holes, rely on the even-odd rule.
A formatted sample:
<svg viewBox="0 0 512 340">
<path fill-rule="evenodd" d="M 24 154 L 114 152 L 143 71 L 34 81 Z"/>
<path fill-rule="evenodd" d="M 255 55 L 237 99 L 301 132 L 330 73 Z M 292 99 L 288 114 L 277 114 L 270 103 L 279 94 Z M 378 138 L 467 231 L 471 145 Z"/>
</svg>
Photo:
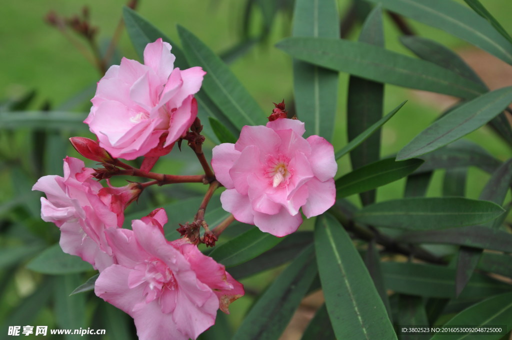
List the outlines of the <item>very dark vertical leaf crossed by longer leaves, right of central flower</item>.
<svg viewBox="0 0 512 340">
<path fill-rule="evenodd" d="M 376 6 L 368 15 L 359 34 L 359 41 L 384 47 L 382 9 Z M 349 78 L 347 99 L 347 135 L 353 140 L 382 117 L 384 84 L 356 76 Z M 380 156 L 380 129 L 350 152 L 352 168 L 376 162 Z M 364 205 L 375 202 L 375 190 L 360 193 Z"/>
</svg>

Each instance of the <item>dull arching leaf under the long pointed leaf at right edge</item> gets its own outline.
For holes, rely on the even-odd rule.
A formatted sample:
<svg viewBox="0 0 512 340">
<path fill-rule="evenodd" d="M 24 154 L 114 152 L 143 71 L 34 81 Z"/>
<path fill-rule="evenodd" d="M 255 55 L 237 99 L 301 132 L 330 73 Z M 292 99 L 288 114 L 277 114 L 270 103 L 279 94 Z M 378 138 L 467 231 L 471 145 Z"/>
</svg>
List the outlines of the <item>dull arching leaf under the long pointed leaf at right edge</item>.
<svg viewBox="0 0 512 340">
<path fill-rule="evenodd" d="M 455 168 L 465 166 L 478 166 L 483 171 L 493 173 L 501 162 L 490 155 L 480 145 L 467 140 L 457 140 L 440 149 L 419 157 L 425 162 L 415 174 L 431 172 L 439 168 Z"/>
</svg>

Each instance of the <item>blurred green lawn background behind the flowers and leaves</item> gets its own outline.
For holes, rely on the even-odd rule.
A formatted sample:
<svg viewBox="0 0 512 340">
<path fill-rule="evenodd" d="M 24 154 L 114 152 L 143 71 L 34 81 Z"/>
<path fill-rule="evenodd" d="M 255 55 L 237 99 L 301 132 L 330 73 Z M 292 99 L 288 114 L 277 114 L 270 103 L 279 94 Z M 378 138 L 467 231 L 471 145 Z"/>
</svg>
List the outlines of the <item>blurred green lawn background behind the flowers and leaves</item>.
<svg viewBox="0 0 512 340">
<path fill-rule="evenodd" d="M 463 3 L 462 1 L 458 1 Z M 362 3 L 358 1 L 357 3 Z M 52 129 L 51 126 L 34 125 L 30 119 L 14 120 L 18 111 L 56 110 L 66 112 L 75 120 L 83 120 L 90 109 L 89 100 L 94 96 L 96 82 L 102 74 L 93 59 L 94 49 L 87 39 L 76 34 L 69 27 L 59 29 L 51 25 L 57 18 L 83 18 L 84 6 L 88 8 L 91 27 L 95 28 L 98 53 L 108 50 L 112 37 L 118 34 L 118 42 L 111 61 L 119 63 L 120 57 L 138 59 L 126 32 L 119 26 L 124 0 L 18 0 L 4 2 L 0 11 L 0 325 L 12 320 L 18 313 L 24 320 L 24 313 L 30 315 L 32 325 L 55 325 L 52 304 L 47 304 L 41 294 L 34 296 L 38 289 L 55 288 L 47 283 L 44 275 L 25 267 L 42 249 L 58 241 L 58 229 L 38 219 L 38 194 L 30 188 L 37 178 L 44 175 L 62 175 L 61 159 L 66 155 L 78 157 L 69 145 L 71 136 L 93 138 L 87 125 L 76 124 L 69 128 Z M 509 0 L 486 0 L 485 6 L 505 30 L 512 32 L 512 2 Z M 182 25 L 212 50 L 229 61 L 231 70 L 258 101 L 260 106 L 271 113 L 272 102 L 283 98 L 293 111 L 292 64 L 291 58 L 273 46 L 291 32 L 293 0 L 176 0 L 160 2 L 143 0 L 137 3 L 136 11 L 169 38 L 179 44 L 176 25 Z M 365 6 L 354 7 L 351 0 L 338 0 L 342 35 L 357 39 Z M 53 12 L 52 12 L 53 11 Z M 53 13 L 50 14 L 49 13 Z M 52 19 L 53 18 L 53 19 Z M 403 54 L 412 55 L 398 38 L 403 28 L 396 25 L 390 15 L 384 17 L 386 47 Z M 413 20 L 405 19 L 411 32 L 435 39 L 458 53 L 486 82 L 490 89 L 512 84 L 512 69 L 501 60 L 467 45 L 464 41 Z M 117 31 L 117 33 L 116 33 Z M 340 74 L 338 112 L 333 140 L 335 150 L 347 143 L 346 101 L 347 74 Z M 381 155 L 392 155 L 406 145 L 426 125 L 449 108 L 456 99 L 421 91 L 386 86 L 385 112 L 395 108 L 403 100 L 408 103 L 392 118 L 382 130 Z M 11 112 L 15 111 L 15 112 Z M 10 115 L 10 116 L 8 116 Z M 10 119 L 7 119 L 9 117 Z M 60 125 L 59 125 L 60 126 Z M 48 133 L 51 131 L 51 133 Z M 478 141 L 492 155 L 500 160 L 508 157 L 508 146 L 487 126 L 466 138 Z M 482 142 L 484 141 L 484 142 Z M 207 141 L 207 152 L 215 144 Z M 189 150 L 182 153 L 173 151 L 158 163 L 156 171 L 170 174 L 200 173 L 201 168 Z M 189 162 L 190 161 L 190 162 Z M 94 162 L 86 165 L 93 166 Z M 339 161 L 338 176 L 350 171 L 348 157 Z M 488 174 L 474 167 L 470 168 L 467 181 L 467 197 L 478 198 L 488 179 Z M 437 171 L 427 196 L 440 196 L 443 171 Z M 122 185 L 122 184 L 120 184 Z M 398 198 L 403 193 L 404 180 L 379 188 L 377 200 Z M 151 193 L 151 202 L 169 203 L 178 198 L 191 198 L 203 190 L 197 185 L 177 185 L 156 188 Z M 349 198 L 352 199 L 352 198 Z M 142 199 L 141 199 L 142 200 Z M 353 202 L 359 204 L 358 197 Z M 141 206 L 132 208 L 142 209 Z M 130 212 L 130 211 L 128 211 Z M 311 222 L 303 226 L 307 229 Z M 279 269 L 278 269 L 279 271 Z M 268 271 L 246 282 L 248 291 L 259 292 L 275 275 Z M 89 272 L 89 276 L 94 272 Z M 88 275 L 82 275 L 82 281 Z M 79 278 L 78 284 L 80 284 Z M 71 288 L 72 282 L 62 289 Z M 67 293 L 69 294 L 68 291 Z M 248 294 L 250 295 L 250 294 Z M 37 299 L 41 300 L 37 300 Z M 89 295 L 88 299 L 95 299 Z M 36 301 L 37 300 L 37 301 Z M 99 300 L 99 299 L 96 299 Z M 244 299 L 241 299 L 244 300 Z M 43 303 L 44 302 L 44 303 Z M 321 304 L 321 296 L 313 296 L 303 303 L 297 319 L 285 333 L 285 338 L 297 338 L 305 326 L 304 320 L 313 315 Z M 32 307 L 31 303 L 34 305 Z M 73 303 L 73 302 L 71 302 Z M 89 304 L 88 301 L 83 303 Z M 95 302 L 99 303 L 99 302 Z M 102 302 L 101 302 L 102 303 Z M 236 328 L 245 309 L 250 306 L 250 297 L 232 306 L 227 322 Z M 30 308 L 20 309 L 22 304 Z M 39 306 L 36 308 L 35 306 Z M 89 305 L 88 305 L 89 306 Z M 106 304 L 101 305 L 101 308 Z M 36 309 L 34 309 L 36 308 Z M 86 308 L 85 317 L 95 320 L 95 308 Z M 17 314 L 16 314 L 17 315 Z M 27 315 L 28 320 L 28 315 Z M 24 325 L 21 325 L 24 326 Z M 6 334 L 0 330 L 0 338 Z M 112 337 L 114 331 L 106 332 Z M 110 334 L 110 335 L 109 335 Z M 56 337 L 57 338 L 57 337 Z M 94 337 L 98 338 L 98 337 Z"/>
</svg>

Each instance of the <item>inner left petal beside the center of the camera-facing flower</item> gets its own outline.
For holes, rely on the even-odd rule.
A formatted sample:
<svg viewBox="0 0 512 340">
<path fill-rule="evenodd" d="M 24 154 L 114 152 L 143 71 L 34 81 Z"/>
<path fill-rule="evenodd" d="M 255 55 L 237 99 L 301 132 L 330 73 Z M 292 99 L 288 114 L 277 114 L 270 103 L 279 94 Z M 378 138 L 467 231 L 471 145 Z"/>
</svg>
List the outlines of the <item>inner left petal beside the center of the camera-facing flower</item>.
<svg viewBox="0 0 512 340">
<path fill-rule="evenodd" d="M 236 148 L 236 145 L 235 145 Z M 250 174 L 256 174 L 263 177 L 263 166 L 260 163 L 260 149 L 258 146 L 249 145 L 240 153 L 240 157 L 234 162 L 229 170 L 229 176 L 233 182 L 233 186 L 242 195 L 247 195 L 249 190 L 248 177 Z M 266 182 L 261 185 L 267 186 Z"/>
</svg>

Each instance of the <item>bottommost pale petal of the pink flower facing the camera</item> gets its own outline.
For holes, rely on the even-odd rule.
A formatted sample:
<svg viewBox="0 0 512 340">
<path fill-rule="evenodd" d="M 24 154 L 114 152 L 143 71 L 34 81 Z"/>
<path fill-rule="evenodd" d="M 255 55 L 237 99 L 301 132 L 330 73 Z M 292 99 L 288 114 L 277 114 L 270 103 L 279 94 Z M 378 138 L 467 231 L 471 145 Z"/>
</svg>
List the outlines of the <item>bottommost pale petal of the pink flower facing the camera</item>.
<svg viewBox="0 0 512 340">
<path fill-rule="evenodd" d="M 254 213 L 254 225 L 261 231 L 271 233 L 277 237 L 283 237 L 295 232 L 301 223 L 301 214 L 291 216 L 285 208 L 281 208 L 279 213 L 275 215 Z"/>
</svg>

